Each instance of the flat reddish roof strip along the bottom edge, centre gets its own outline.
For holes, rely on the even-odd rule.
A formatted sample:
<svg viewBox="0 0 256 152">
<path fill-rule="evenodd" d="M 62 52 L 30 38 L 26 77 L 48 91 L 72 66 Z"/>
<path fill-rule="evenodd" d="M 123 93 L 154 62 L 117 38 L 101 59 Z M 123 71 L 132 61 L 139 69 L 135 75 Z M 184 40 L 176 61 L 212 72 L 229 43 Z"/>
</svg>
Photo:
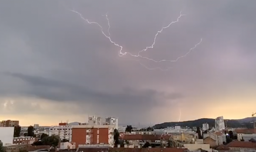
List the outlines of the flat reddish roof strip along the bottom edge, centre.
<svg viewBox="0 0 256 152">
<path fill-rule="evenodd" d="M 184 152 L 188 149 L 177 148 L 110 148 L 109 152 Z"/>
</svg>

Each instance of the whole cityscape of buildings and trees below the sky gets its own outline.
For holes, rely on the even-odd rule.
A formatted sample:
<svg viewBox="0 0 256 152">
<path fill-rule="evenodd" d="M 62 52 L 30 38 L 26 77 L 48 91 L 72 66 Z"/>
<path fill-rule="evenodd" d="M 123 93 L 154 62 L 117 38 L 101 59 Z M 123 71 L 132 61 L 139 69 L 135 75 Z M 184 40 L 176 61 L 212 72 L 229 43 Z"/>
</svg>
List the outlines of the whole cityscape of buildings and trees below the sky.
<svg viewBox="0 0 256 152">
<path fill-rule="evenodd" d="M 251 152 L 256 128 L 228 128 L 223 116 L 201 127 L 139 128 L 119 126 L 116 117 L 91 116 L 87 123 L 20 127 L 0 122 L 0 152 Z"/>
</svg>

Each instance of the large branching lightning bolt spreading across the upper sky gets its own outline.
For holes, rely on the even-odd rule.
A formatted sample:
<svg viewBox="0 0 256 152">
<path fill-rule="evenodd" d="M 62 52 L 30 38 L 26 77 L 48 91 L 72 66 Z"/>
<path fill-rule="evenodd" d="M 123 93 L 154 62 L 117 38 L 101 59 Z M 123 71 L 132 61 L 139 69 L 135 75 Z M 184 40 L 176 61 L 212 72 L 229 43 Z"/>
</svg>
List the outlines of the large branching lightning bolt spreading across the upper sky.
<svg viewBox="0 0 256 152">
<path fill-rule="evenodd" d="M 152 49 L 152 48 L 154 47 L 154 45 L 155 45 L 157 36 L 158 36 L 160 33 L 162 33 L 162 31 L 163 31 L 164 29 L 170 27 L 173 23 L 179 22 L 179 19 L 180 19 L 182 16 L 185 16 L 185 15 L 186 15 L 186 14 L 182 14 L 182 11 L 180 12 L 180 16 L 177 18 L 176 21 L 171 22 L 168 26 L 165 26 L 165 27 L 163 27 L 160 31 L 157 31 L 157 33 L 155 34 L 155 37 L 154 37 L 154 41 L 153 41 L 153 43 L 152 43 L 152 45 L 151 45 L 150 47 L 146 47 L 145 49 L 143 49 L 143 50 L 141 50 L 141 51 L 138 51 L 137 55 L 134 55 L 134 54 L 132 54 L 132 53 L 130 53 L 130 52 L 122 52 L 122 51 L 123 51 L 123 47 L 122 47 L 121 45 L 117 44 L 116 42 L 112 41 L 112 39 L 110 38 L 110 32 L 109 32 L 109 30 L 110 30 L 110 22 L 109 22 L 109 18 L 108 18 L 108 13 L 106 13 L 105 15 L 102 15 L 102 16 L 106 16 L 106 18 L 107 18 L 107 20 L 108 20 L 108 26 L 109 26 L 109 28 L 108 28 L 108 34 L 109 34 L 109 36 L 107 36 L 107 35 L 104 33 L 103 27 L 102 27 L 99 23 L 97 23 L 97 22 L 90 22 L 88 19 L 85 19 L 85 18 L 82 16 L 81 13 L 79 13 L 79 12 L 77 12 L 77 11 L 74 11 L 74 10 L 70 10 L 70 11 L 72 11 L 72 12 L 74 12 L 74 13 L 77 13 L 77 14 L 80 16 L 81 19 L 83 19 L 84 21 L 86 21 L 86 22 L 89 23 L 89 24 L 97 24 L 97 25 L 101 28 L 102 34 L 103 34 L 106 38 L 108 38 L 109 41 L 110 41 L 112 44 L 114 44 L 115 46 L 117 46 L 117 47 L 120 48 L 120 50 L 119 50 L 119 56 L 124 56 L 124 55 L 126 55 L 126 54 L 129 54 L 130 56 L 133 56 L 133 57 L 141 57 L 141 58 L 144 58 L 144 59 L 147 59 L 147 60 L 151 60 L 151 61 L 154 61 L 154 62 L 163 62 L 163 61 L 166 61 L 166 62 L 176 62 L 176 61 L 178 61 L 180 58 L 187 56 L 193 49 L 195 49 L 195 48 L 202 42 L 202 39 L 200 39 L 200 42 L 197 43 L 193 48 L 191 48 L 185 55 L 179 56 L 179 57 L 178 57 L 177 59 L 175 59 L 175 60 L 162 59 L 162 60 L 158 60 L 158 61 L 157 61 L 157 60 L 154 60 L 154 59 L 149 58 L 149 57 L 141 56 L 141 55 L 140 55 L 140 52 L 142 52 L 142 51 L 147 51 L 148 49 Z M 158 68 L 158 67 L 157 67 L 157 68 L 148 68 L 148 67 L 146 67 L 145 65 L 143 65 L 142 63 L 140 63 L 140 65 L 144 66 L 145 68 L 147 68 L 147 69 L 149 69 L 149 70 L 154 70 L 154 69 L 160 69 L 160 70 L 162 70 L 162 71 L 169 70 L 169 68 L 168 68 L 168 69 L 161 69 L 161 68 Z"/>
</svg>

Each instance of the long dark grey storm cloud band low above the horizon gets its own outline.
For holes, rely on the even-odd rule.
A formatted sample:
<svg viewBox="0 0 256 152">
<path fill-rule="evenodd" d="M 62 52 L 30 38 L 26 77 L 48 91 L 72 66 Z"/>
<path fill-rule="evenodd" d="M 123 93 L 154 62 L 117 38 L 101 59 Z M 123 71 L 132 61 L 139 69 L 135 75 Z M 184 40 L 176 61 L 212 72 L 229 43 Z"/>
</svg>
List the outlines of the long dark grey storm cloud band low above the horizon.
<svg viewBox="0 0 256 152">
<path fill-rule="evenodd" d="M 162 101 L 165 100 L 182 98 L 182 95 L 178 93 L 170 94 L 152 89 L 136 90 L 125 88 L 119 93 L 102 93 L 39 76 L 29 76 L 20 73 L 5 74 L 27 82 L 31 88 L 27 91 L 28 96 L 36 96 L 53 101 L 83 101 L 96 104 L 157 106 L 164 104 Z"/>
</svg>

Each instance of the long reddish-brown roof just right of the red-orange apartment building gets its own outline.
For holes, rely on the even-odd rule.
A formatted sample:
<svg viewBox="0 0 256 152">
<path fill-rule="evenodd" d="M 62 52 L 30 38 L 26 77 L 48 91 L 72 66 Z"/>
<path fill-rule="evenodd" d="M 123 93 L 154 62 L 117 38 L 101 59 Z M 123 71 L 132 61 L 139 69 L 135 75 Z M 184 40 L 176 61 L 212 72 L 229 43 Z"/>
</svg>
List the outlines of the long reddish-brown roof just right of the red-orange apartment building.
<svg viewBox="0 0 256 152">
<path fill-rule="evenodd" d="M 123 135 L 124 140 L 161 140 L 161 139 L 168 140 L 169 138 L 171 138 L 170 135 L 141 135 L 141 134 Z"/>
</svg>

